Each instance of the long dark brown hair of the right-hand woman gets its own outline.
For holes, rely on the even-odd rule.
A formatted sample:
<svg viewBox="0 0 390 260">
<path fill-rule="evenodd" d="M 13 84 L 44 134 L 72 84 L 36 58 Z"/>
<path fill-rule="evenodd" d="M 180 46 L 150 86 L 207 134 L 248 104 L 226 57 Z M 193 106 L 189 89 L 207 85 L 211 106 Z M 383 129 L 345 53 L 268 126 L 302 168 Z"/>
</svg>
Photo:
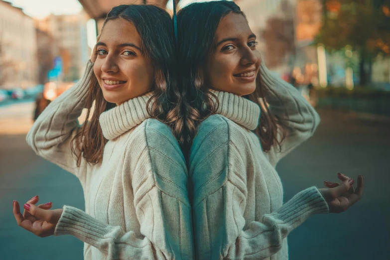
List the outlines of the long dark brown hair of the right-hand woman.
<svg viewBox="0 0 390 260">
<path fill-rule="evenodd" d="M 177 14 L 178 23 L 178 62 L 182 93 L 185 98 L 183 108 L 187 111 L 185 121 L 187 152 L 196 134 L 197 126 L 218 110 L 218 98 L 210 91 L 205 80 L 205 62 L 215 47 L 215 34 L 218 24 L 229 13 L 239 13 L 245 17 L 240 7 L 233 1 L 211 1 L 192 3 Z M 196 18 L 196 22 L 194 22 Z M 260 124 L 254 132 L 260 139 L 263 151 L 272 145 L 279 145 L 285 138 L 287 127 L 274 116 L 266 105 L 266 97 L 273 94 L 261 83 L 260 73 L 256 78 L 254 93 L 244 96 L 260 106 Z M 217 102 L 214 102 L 216 100 Z M 262 100 L 262 102 L 260 101 Z M 261 104 L 262 103 L 262 104 Z M 278 131 L 281 136 L 277 138 Z"/>
</svg>

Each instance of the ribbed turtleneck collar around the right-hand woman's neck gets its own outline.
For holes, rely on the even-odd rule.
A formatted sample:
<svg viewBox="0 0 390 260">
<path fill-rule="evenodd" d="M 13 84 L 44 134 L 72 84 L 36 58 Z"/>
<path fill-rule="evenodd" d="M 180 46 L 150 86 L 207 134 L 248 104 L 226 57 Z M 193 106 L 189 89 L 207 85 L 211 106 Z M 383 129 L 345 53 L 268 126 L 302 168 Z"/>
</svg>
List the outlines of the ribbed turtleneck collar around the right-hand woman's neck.
<svg viewBox="0 0 390 260">
<path fill-rule="evenodd" d="M 260 107 L 256 103 L 232 93 L 215 91 L 219 100 L 217 114 L 249 129 L 255 130 L 259 125 Z"/>
</svg>

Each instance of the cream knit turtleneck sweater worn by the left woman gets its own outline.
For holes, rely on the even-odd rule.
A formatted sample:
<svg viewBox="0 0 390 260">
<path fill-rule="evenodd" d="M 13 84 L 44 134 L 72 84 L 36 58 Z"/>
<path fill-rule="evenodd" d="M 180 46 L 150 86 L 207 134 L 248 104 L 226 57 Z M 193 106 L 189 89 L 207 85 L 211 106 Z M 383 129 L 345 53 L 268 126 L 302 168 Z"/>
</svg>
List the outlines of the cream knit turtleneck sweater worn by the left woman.
<svg viewBox="0 0 390 260">
<path fill-rule="evenodd" d="M 38 155 L 76 175 L 84 190 L 85 212 L 64 206 L 54 235 L 85 242 L 86 260 L 192 259 L 186 163 L 171 130 L 149 118 L 148 95 L 102 113 L 109 140 L 103 161 L 83 159 L 77 167 L 71 140 L 92 77 L 88 62 L 84 77 L 43 111 L 26 138 Z"/>
</svg>

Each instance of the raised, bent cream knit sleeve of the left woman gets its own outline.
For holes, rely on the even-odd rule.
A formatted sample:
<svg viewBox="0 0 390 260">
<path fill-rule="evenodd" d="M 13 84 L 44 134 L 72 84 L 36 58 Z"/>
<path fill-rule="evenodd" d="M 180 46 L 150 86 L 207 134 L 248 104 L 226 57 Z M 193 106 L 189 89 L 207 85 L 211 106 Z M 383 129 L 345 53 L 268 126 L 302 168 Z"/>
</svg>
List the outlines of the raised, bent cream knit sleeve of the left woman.
<svg viewBox="0 0 390 260">
<path fill-rule="evenodd" d="M 93 63 L 88 61 L 83 77 L 51 102 L 27 133 L 26 141 L 39 156 L 75 174 L 81 181 L 76 159 L 72 156 L 71 140 L 79 130 L 78 117 L 85 107 Z"/>
</svg>

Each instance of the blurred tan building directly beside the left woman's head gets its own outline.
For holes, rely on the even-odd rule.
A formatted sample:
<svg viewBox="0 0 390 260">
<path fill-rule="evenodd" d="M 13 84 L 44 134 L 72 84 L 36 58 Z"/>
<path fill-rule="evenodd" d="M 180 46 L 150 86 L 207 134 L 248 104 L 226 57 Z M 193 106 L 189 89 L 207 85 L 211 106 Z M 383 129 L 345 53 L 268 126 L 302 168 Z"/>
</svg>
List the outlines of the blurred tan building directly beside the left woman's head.
<svg viewBox="0 0 390 260">
<path fill-rule="evenodd" d="M 91 56 L 87 41 L 88 19 L 87 14 L 81 12 L 72 15 L 51 14 L 35 20 L 40 50 L 44 51 L 42 47 L 48 44 L 51 54 L 47 55 L 62 60 L 62 76 L 59 80 L 75 81 L 84 72 Z"/>
</svg>

